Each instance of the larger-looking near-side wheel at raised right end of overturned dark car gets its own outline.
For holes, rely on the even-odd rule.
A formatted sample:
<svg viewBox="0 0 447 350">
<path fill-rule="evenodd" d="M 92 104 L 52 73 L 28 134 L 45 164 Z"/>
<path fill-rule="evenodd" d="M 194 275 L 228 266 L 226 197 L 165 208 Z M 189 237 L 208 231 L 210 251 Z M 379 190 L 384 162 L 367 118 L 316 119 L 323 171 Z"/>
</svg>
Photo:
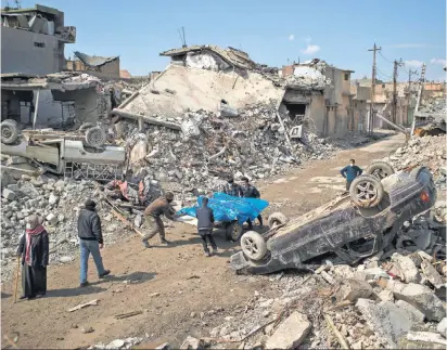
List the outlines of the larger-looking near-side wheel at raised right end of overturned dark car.
<svg viewBox="0 0 447 350">
<path fill-rule="evenodd" d="M 350 199 L 359 207 L 372 208 L 381 203 L 385 191 L 379 179 L 371 174 L 359 176 L 350 184 Z"/>
</svg>

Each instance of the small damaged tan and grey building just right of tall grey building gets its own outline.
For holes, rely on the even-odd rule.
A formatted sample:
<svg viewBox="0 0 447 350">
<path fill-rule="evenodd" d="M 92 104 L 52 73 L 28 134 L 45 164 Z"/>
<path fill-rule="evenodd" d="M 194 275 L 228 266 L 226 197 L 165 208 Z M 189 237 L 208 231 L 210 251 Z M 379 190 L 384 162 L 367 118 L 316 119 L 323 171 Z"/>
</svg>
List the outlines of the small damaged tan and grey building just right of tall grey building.
<svg viewBox="0 0 447 350">
<path fill-rule="evenodd" d="M 66 70 L 85 72 L 100 79 L 119 79 L 119 56 L 91 56 L 75 51 L 75 60 L 67 60 Z"/>
</svg>

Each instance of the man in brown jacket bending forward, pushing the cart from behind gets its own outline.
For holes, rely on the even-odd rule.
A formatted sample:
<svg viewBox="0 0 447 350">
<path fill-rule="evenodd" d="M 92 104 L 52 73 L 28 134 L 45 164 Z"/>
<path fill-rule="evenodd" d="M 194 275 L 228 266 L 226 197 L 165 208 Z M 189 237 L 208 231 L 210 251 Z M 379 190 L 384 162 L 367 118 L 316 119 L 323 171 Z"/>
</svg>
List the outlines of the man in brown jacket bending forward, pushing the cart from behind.
<svg viewBox="0 0 447 350">
<path fill-rule="evenodd" d="M 176 211 L 170 206 L 174 200 L 174 194 L 167 192 L 164 196 L 156 198 L 152 202 L 148 208 L 144 210 L 145 220 L 149 222 L 150 231 L 143 237 L 143 245 L 146 248 L 151 248 L 148 241 L 155 236 L 156 233 L 159 234 L 159 241 L 162 244 L 169 244 L 165 238 L 165 225 L 163 224 L 162 216 L 164 215 L 169 220 L 175 219 Z"/>
</svg>

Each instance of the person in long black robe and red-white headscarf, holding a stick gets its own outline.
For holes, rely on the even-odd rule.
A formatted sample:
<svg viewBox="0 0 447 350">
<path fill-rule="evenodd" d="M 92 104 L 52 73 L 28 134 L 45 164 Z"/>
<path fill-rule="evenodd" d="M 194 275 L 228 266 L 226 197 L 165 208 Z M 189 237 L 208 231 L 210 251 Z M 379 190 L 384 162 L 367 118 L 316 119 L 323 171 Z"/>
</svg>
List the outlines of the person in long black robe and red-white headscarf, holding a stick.
<svg viewBox="0 0 447 350">
<path fill-rule="evenodd" d="M 21 237 L 17 257 L 22 257 L 21 299 L 28 300 L 47 294 L 47 265 L 50 252 L 43 219 L 36 215 L 26 218 L 26 231 Z"/>
</svg>

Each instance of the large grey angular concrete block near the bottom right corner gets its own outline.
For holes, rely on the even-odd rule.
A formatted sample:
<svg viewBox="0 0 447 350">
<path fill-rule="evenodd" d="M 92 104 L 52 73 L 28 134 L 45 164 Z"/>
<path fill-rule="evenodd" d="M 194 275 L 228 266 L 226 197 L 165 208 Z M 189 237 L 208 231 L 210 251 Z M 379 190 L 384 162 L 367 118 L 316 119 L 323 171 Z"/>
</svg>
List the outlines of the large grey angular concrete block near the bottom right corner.
<svg viewBox="0 0 447 350">
<path fill-rule="evenodd" d="M 410 330 L 413 325 L 407 313 L 389 301 L 375 303 L 372 300 L 359 299 L 356 307 L 370 328 L 392 348 L 397 346 L 400 336 Z"/>
</svg>

